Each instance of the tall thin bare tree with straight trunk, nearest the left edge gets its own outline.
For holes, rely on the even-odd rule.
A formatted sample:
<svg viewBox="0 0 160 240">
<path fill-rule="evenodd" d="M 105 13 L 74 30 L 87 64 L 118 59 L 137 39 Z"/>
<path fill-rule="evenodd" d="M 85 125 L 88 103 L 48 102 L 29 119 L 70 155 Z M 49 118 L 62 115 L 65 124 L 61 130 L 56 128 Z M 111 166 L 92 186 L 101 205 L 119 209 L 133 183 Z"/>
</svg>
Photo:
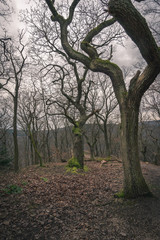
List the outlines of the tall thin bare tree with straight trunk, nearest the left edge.
<svg viewBox="0 0 160 240">
<path fill-rule="evenodd" d="M 13 99 L 13 139 L 14 139 L 14 169 L 19 171 L 19 150 L 18 150 L 18 133 L 17 133 L 17 111 L 19 88 L 23 79 L 23 72 L 27 57 L 24 50 L 25 45 L 22 43 L 24 37 L 23 31 L 19 34 L 18 45 L 12 42 L 7 48 L 8 62 L 5 65 L 4 73 L 1 76 L 1 91 L 6 91 Z M 4 83 L 5 82 L 5 83 Z M 10 84 L 7 84 L 10 83 Z M 6 85 L 7 84 L 7 85 Z M 13 91 L 11 90 L 13 89 Z"/>
</svg>

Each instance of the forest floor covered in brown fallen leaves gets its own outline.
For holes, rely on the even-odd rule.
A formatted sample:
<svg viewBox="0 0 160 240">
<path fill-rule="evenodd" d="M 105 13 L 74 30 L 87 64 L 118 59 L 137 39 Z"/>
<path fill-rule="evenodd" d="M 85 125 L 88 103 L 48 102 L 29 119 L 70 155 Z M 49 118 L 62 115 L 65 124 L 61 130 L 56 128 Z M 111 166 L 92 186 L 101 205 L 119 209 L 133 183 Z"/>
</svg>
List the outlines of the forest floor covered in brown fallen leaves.
<svg viewBox="0 0 160 240">
<path fill-rule="evenodd" d="M 160 166 L 142 163 L 154 197 L 125 200 L 114 197 L 121 163 L 86 164 L 79 174 L 66 173 L 65 163 L 1 170 L 0 240 L 159 240 Z M 23 190 L 9 194 L 8 185 Z"/>
</svg>

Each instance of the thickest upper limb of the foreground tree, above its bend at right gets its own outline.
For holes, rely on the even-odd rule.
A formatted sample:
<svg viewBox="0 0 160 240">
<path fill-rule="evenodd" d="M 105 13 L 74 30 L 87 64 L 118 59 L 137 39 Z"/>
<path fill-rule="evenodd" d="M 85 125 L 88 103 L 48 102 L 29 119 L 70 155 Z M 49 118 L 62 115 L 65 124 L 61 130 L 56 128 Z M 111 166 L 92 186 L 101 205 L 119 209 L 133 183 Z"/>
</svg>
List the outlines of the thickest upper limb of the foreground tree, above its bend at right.
<svg viewBox="0 0 160 240">
<path fill-rule="evenodd" d="M 110 0 L 108 9 L 137 45 L 146 62 L 160 64 L 160 50 L 145 18 L 137 11 L 132 2 L 130 0 Z"/>
</svg>

